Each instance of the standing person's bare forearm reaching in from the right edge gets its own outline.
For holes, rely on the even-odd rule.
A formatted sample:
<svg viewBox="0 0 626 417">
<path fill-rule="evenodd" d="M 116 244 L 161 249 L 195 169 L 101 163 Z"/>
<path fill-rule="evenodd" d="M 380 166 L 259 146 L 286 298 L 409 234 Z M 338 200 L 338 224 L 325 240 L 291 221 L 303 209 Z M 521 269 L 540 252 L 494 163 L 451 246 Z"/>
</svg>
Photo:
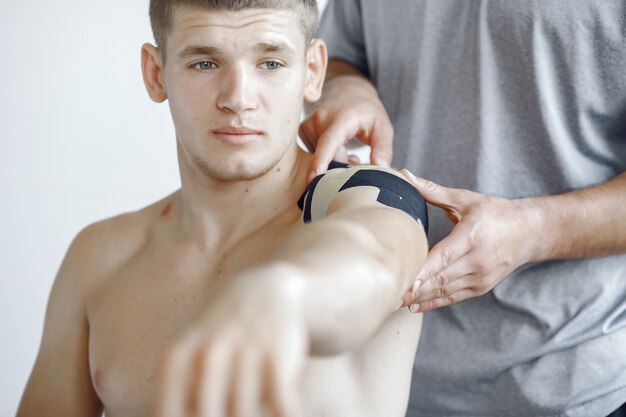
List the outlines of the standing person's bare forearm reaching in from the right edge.
<svg viewBox="0 0 626 417">
<path fill-rule="evenodd" d="M 626 172 L 600 185 L 526 202 L 540 225 L 532 261 L 626 253 Z"/>
</svg>

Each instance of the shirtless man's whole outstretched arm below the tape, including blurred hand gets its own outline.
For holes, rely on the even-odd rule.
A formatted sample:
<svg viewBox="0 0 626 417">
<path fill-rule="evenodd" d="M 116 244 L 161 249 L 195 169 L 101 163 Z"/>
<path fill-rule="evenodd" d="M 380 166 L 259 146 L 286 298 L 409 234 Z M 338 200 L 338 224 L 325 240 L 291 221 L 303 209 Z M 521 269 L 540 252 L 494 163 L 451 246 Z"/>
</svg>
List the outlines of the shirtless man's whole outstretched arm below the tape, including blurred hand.
<svg viewBox="0 0 626 417">
<path fill-rule="evenodd" d="M 297 228 L 273 259 L 224 284 L 164 358 L 160 416 L 254 415 L 261 404 L 276 416 L 299 415 L 307 356 L 369 340 L 426 257 L 422 226 L 379 203 L 379 191 L 340 192 L 326 218 Z"/>
</svg>

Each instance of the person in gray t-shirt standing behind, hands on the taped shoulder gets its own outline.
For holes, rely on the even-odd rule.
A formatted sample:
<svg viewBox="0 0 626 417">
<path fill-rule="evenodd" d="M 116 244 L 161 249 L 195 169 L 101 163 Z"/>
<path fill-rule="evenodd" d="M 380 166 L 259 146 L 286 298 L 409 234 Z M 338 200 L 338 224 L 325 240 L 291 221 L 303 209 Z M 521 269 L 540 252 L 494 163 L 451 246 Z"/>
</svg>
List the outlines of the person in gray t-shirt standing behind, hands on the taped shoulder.
<svg viewBox="0 0 626 417">
<path fill-rule="evenodd" d="M 433 181 L 408 415 L 620 408 L 626 2 L 330 0 L 320 37 L 313 171 L 357 136 Z"/>
</svg>

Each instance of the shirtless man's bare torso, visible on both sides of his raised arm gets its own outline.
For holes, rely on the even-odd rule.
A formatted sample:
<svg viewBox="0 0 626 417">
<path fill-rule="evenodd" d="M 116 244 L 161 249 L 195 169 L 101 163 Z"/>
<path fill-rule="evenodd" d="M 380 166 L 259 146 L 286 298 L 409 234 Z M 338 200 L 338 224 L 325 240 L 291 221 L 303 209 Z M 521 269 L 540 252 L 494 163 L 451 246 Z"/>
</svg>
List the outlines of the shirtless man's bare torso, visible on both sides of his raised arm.
<svg viewBox="0 0 626 417">
<path fill-rule="evenodd" d="M 224 253 L 177 239 L 169 197 L 133 216 L 125 253 L 94 271 L 86 294 L 92 383 L 107 417 L 152 415 L 156 366 L 206 306 L 220 281 L 267 258 L 287 232 L 306 227 L 294 204 Z M 116 249 L 114 249 L 116 250 Z M 404 415 L 421 317 L 396 313 L 359 351 L 309 360 L 302 380 L 307 416 Z M 403 387 L 399 389 L 399 387 Z"/>
</svg>

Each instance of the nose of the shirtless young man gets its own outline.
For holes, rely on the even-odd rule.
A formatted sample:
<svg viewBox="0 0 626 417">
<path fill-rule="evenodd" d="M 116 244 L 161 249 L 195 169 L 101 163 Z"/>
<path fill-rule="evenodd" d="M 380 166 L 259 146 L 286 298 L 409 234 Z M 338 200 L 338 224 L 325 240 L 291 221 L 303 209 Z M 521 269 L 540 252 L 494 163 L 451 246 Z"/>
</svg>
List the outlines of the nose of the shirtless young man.
<svg viewBox="0 0 626 417">
<path fill-rule="evenodd" d="M 217 107 L 231 113 L 254 110 L 257 98 L 252 78 L 244 68 L 233 67 L 225 71 Z"/>
</svg>

